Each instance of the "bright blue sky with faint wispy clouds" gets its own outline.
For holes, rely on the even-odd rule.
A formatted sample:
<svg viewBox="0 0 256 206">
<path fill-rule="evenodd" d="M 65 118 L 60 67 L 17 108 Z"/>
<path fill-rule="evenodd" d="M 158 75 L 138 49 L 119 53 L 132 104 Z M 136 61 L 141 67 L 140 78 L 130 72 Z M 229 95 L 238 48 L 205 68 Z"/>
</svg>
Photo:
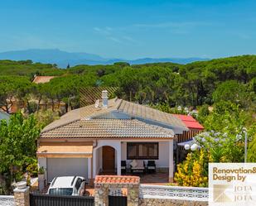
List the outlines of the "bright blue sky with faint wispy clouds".
<svg viewBox="0 0 256 206">
<path fill-rule="evenodd" d="M 256 54 L 254 0 L 8 0 L 0 52 L 60 49 L 106 58 Z"/>
</svg>

